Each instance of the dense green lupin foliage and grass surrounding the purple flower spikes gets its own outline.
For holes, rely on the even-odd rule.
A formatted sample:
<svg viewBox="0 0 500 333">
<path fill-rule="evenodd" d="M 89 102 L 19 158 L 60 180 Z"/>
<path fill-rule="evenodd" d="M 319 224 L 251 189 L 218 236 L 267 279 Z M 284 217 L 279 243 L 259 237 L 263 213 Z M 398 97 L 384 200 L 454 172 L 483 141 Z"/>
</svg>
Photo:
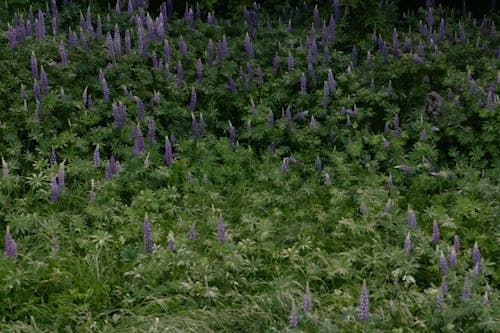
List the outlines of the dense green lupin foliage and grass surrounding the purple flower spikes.
<svg viewBox="0 0 500 333">
<path fill-rule="evenodd" d="M 146 55 L 137 51 L 136 20 L 142 13 L 144 20 L 156 21 L 152 7 L 149 16 L 135 11 L 135 20 L 126 8 L 116 15 L 114 4 L 111 11 L 102 4 L 90 8 L 94 29 L 99 13 L 104 35 L 114 36 L 115 24 L 122 37 L 126 29 L 132 31 L 133 49 L 127 53 L 122 39 L 120 57 L 110 55 L 105 38 L 88 31 L 82 34 L 89 50 L 80 35 L 78 46 L 69 45 L 69 27 L 79 33 L 80 11 L 85 15 L 87 10 L 77 2 L 59 4 L 56 36 L 42 41 L 26 37 L 11 48 L 5 22 L 13 26 L 15 13 L 26 19 L 24 4 L 9 1 L 0 12 L 0 158 L 3 171 L 8 169 L 0 178 L 0 229 L 9 228 L 18 254 L 0 256 L 1 332 L 495 332 L 500 324 L 494 54 L 499 44 L 491 31 L 478 30 L 480 21 L 460 18 L 465 44 L 450 42 L 446 35 L 433 41 L 440 51 L 435 54 L 430 37 L 418 32 L 426 10 L 402 18 L 394 1 L 341 0 L 336 40 L 328 43 L 329 62 L 323 60 L 322 29 L 315 29 L 319 61 L 313 66 L 314 80 L 308 68 L 312 4 L 307 10 L 302 3 L 263 4 L 253 34 L 242 16 L 242 2 L 206 1 L 200 3 L 202 20 L 192 30 L 181 18 L 184 8 L 175 7 L 168 18 L 168 77 L 163 41 L 150 40 Z M 246 5 L 253 10 L 252 3 Z M 219 6 L 237 9 L 231 10 L 231 24 L 219 17 Z M 33 10 L 38 8 L 46 11 L 45 3 L 34 3 Z M 204 23 L 207 11 L 214 9 L 217 24 Z M 328 24 L 330 4 L 319 10 L 321 24 Z M 437 10 L 434 15 L 436 29 Z M 443 18 L 447 33 L 459 36 L 458 18 L 447 8 Z M 49 32 L 50 14 L 46 19 Z M 495 19 L 487 17 L 487 24 Z M 400 32 L 408 25 L 409 32 Z M 394 28 L 401 49 L 409 38 L 411 53 L 392 54 Z M 245 51 L 249 30 L 254 59 Z M 367 31 L 386 41 L 387 59 Z M 181 36 L 187 58 L 179 49 Z M 219 62 L 218 42 L 224 38 L 228 55 Z M 209 39 L 215 46 L 213 67 L 207 63 Z M 61 40 L 68 66 L 61 64 Z M 476 46 L 476 40 L 488 50 Z M 420 41 L 423 65 L 414 58 Z M 153 51 L 163 64 L 157 70 Z M 38 104 L 39 123 L 32 52 L 50 87 Z M 276 54 L 279 68 L 273 72 Z M 291 71 L 289 54 L 295 61 Z M 202 82 L 197 80 L 198 59 Z M 259 66 L 263 83 L 257 79 Z M 248 91 L 240 68 L 249 80 Z M 109 103 L 100 70 L 110 89 Z M 329 70 L 336 91 L 329 92 L 324 107 Z M 305 95 L 300 93 L 302 73 Z M 237 94 L 226 87 L 230 78 Z M 487 108 L 490 84 L 497 94 L 493 91 L 492 110 Z M 193 88 L 197 103 L 191 109 Z M 83 102 L 84 91 L 92 108 Z M 438 106 L 429 104 L 431 92 L 442 97 Z M 144 104 L 144 119 L 134 96 Z M 121 128 L 113 104 L 126 107 Z M 148 141 L 149 117 L 155 120 L 154 143 Z M 198 137 L 193 117 L 198 124 L 203 117 L 206 124 L 204 130 L 196 127 Z M 145 143 L 134 151 L 137 128 Z M 174 153 L 171 165 L 165 156 L 167 136 Z M 113 175 L 111 157 L 119 162 Z M 411 172 L 395 168 L 400 165 Z M 65 185 L 57 187 L 54 199 L 51 178 L 61 181 L 63 167 Z M 410 210 L 416 228 L 407 223 Z M 146 253 L 146 214 L 152 253 Z M 407 235 L 409 253 L 404 252 Z M 440 255 L 449 258 L 455 236 L 460 239 L 457 266 L 448 263 L 448 290 L 443 292 Z M 473 266 L 475 243 L 480 272 Z M 465 276 L 471 292 L 463 300 Z M 363 282 L 370 297 L 367 322 L 358 317 Z M 311 313 L 302 306 L 306 286 Z M 292 304 L 297 328 L 289 327 Z"/>
</svg>

